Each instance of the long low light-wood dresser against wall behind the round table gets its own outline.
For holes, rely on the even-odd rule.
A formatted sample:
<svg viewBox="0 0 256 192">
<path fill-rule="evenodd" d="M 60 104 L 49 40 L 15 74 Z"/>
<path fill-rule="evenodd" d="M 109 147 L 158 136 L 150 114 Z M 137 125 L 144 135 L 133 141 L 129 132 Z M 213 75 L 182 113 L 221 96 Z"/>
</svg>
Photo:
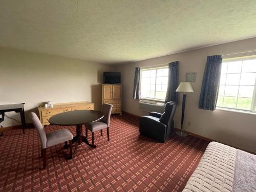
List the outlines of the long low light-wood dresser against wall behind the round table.
<svg viewBox="0 0 256 192">
<path fill-rule="evenodd" d="M 49 118 L 53 115 L 75 110 L 94 110 L 94 103 L 87 101 L 80 102 L 70 102 L 70 103 L 56 103 L 53 104 L 53 108 L 45 108 L 44 106 L 39 106 L 39 116 L 42 125 L 49 125 Z"/>
</svg>

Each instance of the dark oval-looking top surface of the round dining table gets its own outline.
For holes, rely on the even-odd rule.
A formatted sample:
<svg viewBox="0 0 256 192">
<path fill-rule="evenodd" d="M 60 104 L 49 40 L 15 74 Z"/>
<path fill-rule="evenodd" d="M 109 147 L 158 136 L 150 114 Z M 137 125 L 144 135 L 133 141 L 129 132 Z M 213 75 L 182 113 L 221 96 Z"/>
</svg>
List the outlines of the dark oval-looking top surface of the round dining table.
<svg viewBox="0 0 256 192">
<path fill-rule="evenodd" d="M 81 125 L 97 121 L 103 118 L 103 113 L 92 110 L 77 110 L 59 113 L 49 119 L 49 123 L 55 125 Z"/>
</svg>

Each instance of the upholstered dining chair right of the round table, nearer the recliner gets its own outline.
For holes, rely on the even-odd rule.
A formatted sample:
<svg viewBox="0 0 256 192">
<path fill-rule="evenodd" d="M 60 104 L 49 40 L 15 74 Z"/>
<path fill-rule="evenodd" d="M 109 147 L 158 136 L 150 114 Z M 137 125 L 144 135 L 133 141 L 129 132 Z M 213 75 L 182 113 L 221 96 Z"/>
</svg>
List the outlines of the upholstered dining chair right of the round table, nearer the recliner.
<svg viewBox="0 0 256 192">
<path fill-rule="evenodd" d="M 110 115 L 113 105 L 108 103 L 103 103 L 101 112 L 104 114 L 104 117 L 98 121 L 90 122 L 86 124 L 86 137 L 88 138 L 88 130 L 92 132 L 92 144 L 94 145 L 94 132 L 100 131 L 102 136 L 102 130 L 106 129 L 106 134 L 108 135 L 108 141 L 110 140 Z"/>
</svg>

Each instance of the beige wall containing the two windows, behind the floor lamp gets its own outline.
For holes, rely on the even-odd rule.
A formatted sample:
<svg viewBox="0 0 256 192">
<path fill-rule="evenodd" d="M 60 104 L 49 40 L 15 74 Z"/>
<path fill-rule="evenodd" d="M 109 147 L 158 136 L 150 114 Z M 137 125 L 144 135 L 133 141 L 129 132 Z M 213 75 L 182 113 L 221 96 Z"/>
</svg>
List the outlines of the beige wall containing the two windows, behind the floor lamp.
<svg viewBox="0 0 256 192">
<path fill-rule="evenodd" d="M 179 80 L 185 81 L 185 73 L 197 72 L 197 80 L 192 83 L 195 93 L 187 94 L 185 127 L 187 131 L 256 152 L 256 115 L 216 110 L 214 112 L 198 109 L 200 89 L 205 62 L 208 55 L 224 55 L 256 50 L 256 38 L 230 42 L 228 44 L 167 55 L 119 66 L 122 73 L 122 108 L 135 115 L 146 114 L 139 110 L 139 101 L 132 98 L 135 67 L 162 65 L 179 61 Z M 175 127 L 180 127 L 181 94 L 175 115 Z"/>
</svg>

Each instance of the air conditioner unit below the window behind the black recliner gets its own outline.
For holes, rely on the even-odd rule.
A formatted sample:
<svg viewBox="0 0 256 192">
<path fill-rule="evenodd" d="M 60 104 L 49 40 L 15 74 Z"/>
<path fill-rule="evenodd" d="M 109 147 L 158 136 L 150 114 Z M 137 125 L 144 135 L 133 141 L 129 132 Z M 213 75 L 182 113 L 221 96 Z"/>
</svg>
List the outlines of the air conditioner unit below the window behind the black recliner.
<svg viewBox="0 0 256 192">
<path fill-rule="evenodd" d="M 150 100 L 140 100 L 139 109 L 146 112 L 164 112 L 165 104 L 163 102 L 158 101 L 150 101 Z"/>
</svg>

